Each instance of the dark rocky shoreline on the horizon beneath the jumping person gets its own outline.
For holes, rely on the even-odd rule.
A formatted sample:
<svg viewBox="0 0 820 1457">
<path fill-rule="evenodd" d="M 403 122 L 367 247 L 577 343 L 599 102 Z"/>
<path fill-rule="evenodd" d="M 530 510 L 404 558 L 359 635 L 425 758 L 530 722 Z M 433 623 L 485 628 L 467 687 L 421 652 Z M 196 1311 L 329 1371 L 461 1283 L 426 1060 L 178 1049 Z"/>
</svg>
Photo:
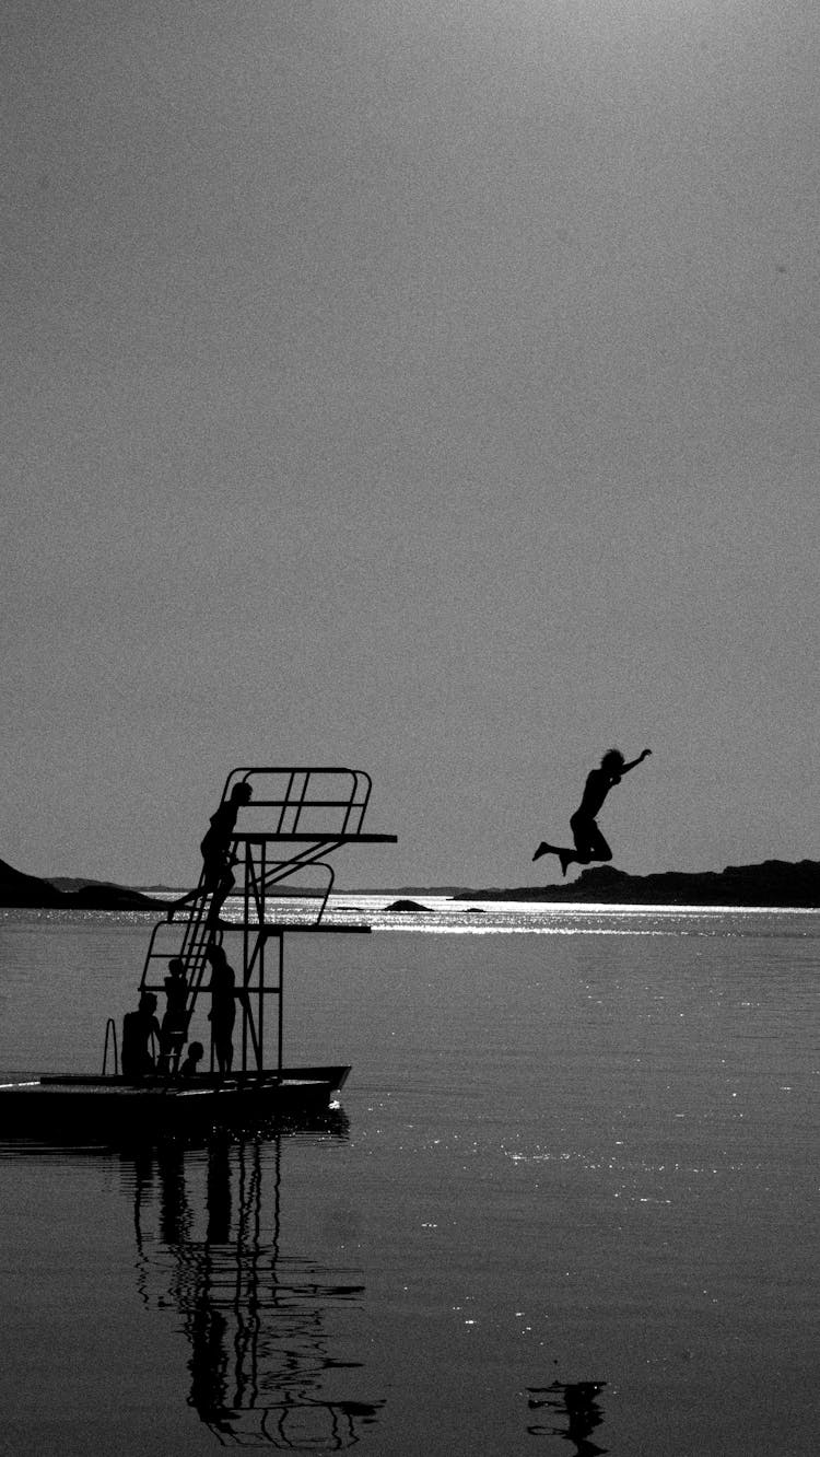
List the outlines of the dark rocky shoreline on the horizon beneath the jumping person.
<svg viewBox="0 0 820 1457">
<path fill-rule="evenodd" d="M 629 876 L 615 865 L 590 865 L 569 884 L 460 890 L 452 899 L 820 909 L 820 863 L 765 860 L 759 865 L 727 865 L 725 870 L 699 873 L 666 870 L 651 876 Z"/>
</svg>

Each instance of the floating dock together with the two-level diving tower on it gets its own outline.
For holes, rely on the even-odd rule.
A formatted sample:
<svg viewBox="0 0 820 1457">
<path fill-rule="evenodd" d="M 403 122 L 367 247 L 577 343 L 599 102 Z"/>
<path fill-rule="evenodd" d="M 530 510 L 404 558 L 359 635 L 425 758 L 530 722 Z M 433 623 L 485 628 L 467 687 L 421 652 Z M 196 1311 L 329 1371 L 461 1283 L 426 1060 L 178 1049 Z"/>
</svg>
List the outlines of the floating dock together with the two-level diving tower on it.
<svg viewBox="0 0 820 1457">
<path fill-rule="evenodd" d="M 157 963 L 181 963 L 176 1039 L 154 1021 L 159 1037 L 147 1034 L 144 1064 L 121 1067 L 109 1018 L 100 1074 L 50 1074 L 0 1085 L 0 1138 L 153 1139 L 328 1112 L 351 1069 L 284 1064 L 285 941 L 291 934 L 370 934 L 367 924 L 325 919 L 335 880 L 328 857 L 350 845 L 396 842 L 395 835 L 363 829 L 370 791 L 361 769 L 232 769 L 211 817 L 223 828 L 223 873 L 214 874 L 202 847 L 200 884 L 179 903 L 169 902 L 167 916 L 153 927 L 137 988 L 140 1000 L 157 1004 L 166 992 L 170 1008 L 167 978 L 157 976 Z M 230 1056 L 202 1016 L 208 1007 L 214 1011 L 218 995 L 214 972 L 205 979 L 214 956 L 227 966 L 233 988 L 227 995 L 234 998 L 237 1046 L 232 1032 Z M 201 1050 L 205 1069 L 182 1075 L 184 1043 Z"/>
</svg>

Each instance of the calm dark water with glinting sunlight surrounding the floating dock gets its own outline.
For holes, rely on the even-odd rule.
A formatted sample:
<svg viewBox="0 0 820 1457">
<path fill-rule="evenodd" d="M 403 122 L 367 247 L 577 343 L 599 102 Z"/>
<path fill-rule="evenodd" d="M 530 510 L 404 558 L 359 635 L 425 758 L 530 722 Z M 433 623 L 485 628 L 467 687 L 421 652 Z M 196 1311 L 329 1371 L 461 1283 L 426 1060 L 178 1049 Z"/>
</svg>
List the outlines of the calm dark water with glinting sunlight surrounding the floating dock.
<svg viewBox="0 0 820 1457">
<path fill-rule="evenodd" d="M 0 1450 L 814 1451 L 820 915 L 351 900 L 325 1128 L 0 1145 Z M 99 1069 L 150 924 L 6 912 L 0 1069 Z"/>
</svg>

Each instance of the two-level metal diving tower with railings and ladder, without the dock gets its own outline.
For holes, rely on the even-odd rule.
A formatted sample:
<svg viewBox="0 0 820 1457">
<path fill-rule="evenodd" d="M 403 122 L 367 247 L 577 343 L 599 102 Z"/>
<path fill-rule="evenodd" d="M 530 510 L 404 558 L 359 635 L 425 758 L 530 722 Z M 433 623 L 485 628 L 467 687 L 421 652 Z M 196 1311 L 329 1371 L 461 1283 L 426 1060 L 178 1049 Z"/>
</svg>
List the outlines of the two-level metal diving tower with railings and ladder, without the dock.
<svg viewBox="0 0 820 1457">
<path fill-rule="evenodd" d="M 224 874 L 216 881 L 205 864 L 197 890 L 185 898 L 185 903 L 170 908 L 167 922 L 154 927 L 140 991 L 162 992 L 156 963 L 179 957 L 185 966 L 188 1029 L 200 994 L 208 992 L 204 979 L 210 947 L 221 946 L 226 934 L 240 937 L 236 992 L 242 1074 L 283 1074 L 285 935 L 370 931 L 364 924 L 325 921 L 334 887 L 328 857 L 345 845 L 396 842 L 395 835 L 373 835 L 363 829 L 370 788 L 370 777 L 361 769 L 233 769 L 224 784 L 220 810 L 211 822 L 220 813 L 224 816 L 226 810 L 227 820 L 233 819 L 224 836 Z M 248 793 L 251 797 L 245 803 Z M 268 953 L 269 941 L 277 943 L 275 957 Z M 272 1061 L 265 1059 L 268 997 L 277 998 L 277 1052 Z"/>
</svg>

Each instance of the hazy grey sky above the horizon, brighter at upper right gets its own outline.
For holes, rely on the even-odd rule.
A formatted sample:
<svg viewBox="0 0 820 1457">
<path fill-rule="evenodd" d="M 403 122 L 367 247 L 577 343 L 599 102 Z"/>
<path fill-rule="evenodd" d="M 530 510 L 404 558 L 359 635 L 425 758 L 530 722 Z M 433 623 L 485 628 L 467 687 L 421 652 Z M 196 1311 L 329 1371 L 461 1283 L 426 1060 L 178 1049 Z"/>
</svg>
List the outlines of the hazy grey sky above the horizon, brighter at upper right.
<svg viewBox="0 0 820 1457">
<path fill-rule="evenodd" d="M 816 0 L 6 0 L 0 857 L 820 858 Z"/>
</svg>

